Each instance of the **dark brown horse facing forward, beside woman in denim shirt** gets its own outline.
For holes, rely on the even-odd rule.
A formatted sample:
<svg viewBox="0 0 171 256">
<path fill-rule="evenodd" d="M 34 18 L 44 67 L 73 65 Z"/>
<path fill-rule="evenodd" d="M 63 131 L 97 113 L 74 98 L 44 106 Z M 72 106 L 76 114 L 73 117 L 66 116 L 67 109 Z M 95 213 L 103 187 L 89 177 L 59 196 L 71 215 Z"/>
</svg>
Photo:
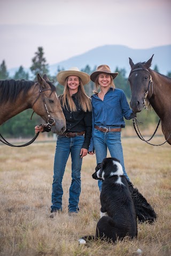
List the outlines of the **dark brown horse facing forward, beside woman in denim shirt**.
<svg viewBox="0 0 171 256">
<path fill-rule="evenodd" d="M 161 120 L 162 133 L 168 139 L 171 134 L 171 78 L 150 69 L 152 58 L 137 64 L 129 58 L 130 107 L 135 113 L 141 112 L 144 100 L 149 100 Z M 171 136 L 167 142 L 171 145 Z"/>
</svg>

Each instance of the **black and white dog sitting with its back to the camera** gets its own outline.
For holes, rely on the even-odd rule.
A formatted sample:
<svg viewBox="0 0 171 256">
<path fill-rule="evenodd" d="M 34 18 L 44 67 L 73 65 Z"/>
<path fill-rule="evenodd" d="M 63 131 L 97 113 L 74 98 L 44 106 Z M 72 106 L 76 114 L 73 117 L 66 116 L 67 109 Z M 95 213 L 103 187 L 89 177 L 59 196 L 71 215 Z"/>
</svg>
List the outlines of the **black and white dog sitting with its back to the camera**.
<svg viewBox="0 0 171 256">
<path fill-rule="evenodd" d="M 123 169 L 118 159 L 105 158 L 100 169 L 92 177 L 103 180 L 100 193 L 100 220 L 96 227 L 96 236 L 84 236 L 79 242 L 86 243 L 90 239 L 105 239 L 116 242 L 128 236 L 137 236 L 137 220 L 133 198 Z"/>
</svg>

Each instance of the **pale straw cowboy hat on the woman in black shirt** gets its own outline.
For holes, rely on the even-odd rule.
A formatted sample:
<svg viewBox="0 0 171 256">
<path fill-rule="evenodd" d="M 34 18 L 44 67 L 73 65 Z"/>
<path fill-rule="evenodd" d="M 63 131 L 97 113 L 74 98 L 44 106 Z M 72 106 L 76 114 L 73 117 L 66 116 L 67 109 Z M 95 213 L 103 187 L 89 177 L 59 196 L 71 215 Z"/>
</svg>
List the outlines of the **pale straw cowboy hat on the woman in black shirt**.
<svg viewBox="0 0 171 256">
<path fill-rule="evenodd" d="M 65 86 L 65 81 L 69 75 L 76 75 L 79 76 L 83 86 L 87 84 L 90 81 L 90 76 L 87 73 L 79 71 L 79 68 L 77 67 L 71 67 L 66 71 L 60 71 L 57 74 L 57 80 L 62 85 Z"/>
</svg>

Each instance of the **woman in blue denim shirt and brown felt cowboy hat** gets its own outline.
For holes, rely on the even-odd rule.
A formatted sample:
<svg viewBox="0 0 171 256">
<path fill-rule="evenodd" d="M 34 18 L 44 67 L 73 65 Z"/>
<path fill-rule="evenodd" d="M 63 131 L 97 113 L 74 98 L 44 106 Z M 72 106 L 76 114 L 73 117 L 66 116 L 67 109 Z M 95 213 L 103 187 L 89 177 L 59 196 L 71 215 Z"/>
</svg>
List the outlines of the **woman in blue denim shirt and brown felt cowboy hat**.
<svg viewBox="0 0 171 256">
<path fill-rule="evenodd" d="M 118 73 L 112 73 L 107 65 L 100 65 L 97 71 L 90 75 L 99 92 L 91 96 L 92 105 L 92 138 L 89 146 L 89 154 L 96 152 L 97 164 L 107 156 L 107 148 L 111 157 L 120 160 L 123 173 L 129 181 L 123 161 L 121 144 L 121 128 L 125 128 L 125 121 L 134 118 L 134 112 L 130 109 L 123 90 L 115 88 L 113 79 Z M 99 189 L 102 181 L 98 181 Z"/>
</svg>

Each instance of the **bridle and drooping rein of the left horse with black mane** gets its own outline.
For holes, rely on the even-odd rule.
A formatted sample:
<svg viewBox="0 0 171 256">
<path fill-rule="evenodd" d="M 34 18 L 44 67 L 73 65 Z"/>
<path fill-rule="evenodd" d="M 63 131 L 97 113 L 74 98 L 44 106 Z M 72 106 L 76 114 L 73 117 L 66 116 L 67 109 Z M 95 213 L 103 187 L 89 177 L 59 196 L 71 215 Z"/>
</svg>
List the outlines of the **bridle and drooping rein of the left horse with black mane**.
<svg viewBox="0 0 171 256">
<path fill-rule="evenodd" d="M 35 99 L 33 105 L 36 103 L 37 99 L 40 97 L 41 92 L 43 92 L 43 91 L 49 91 L 49 90 L 51 91 L 51 89 L 42 89 L 41 86 L 40 86 L 39 94 L 38 94 L 37 98 Z M 46 106 L 46 103 L 45 103 L 45 99 L 44 99 L 44 97 L 43 97 L 43 94 L 42 94 L 42 100 L 43 100 L 43 103 L 44 103 L 45 110 L 46 110 L 46 112 L 48 113 L 48 122 L 45 123 L 44 125 L 40 125 L 40 127 L 48 127 L 48 128 L 51 128 L 51 126 L 55 125 L 55 119 L 51 118 L 51 116 L 50 116 L 50 114 L 49 114 L 49 111 L 48 111 L 48 108 L 47 108 L 47 106 Z M 33 108 L 33 105 L 32 105 L 32 108 Z M 31 116 L 31 118 L 30 118 L 31 120 L 32 120 L 33 114 L 34 114 L 34 111 L 33 111 L 32 116 Z M 4 143 L 5 145 L 7 145 L 7 146 L 13 146 L 13 147 L 16 147 L 16 148 L 20 148 L 20 147 L 28 146 L 28 145 L 32 144 L 32 143 L 35 141 L 35 139 L 38 137 L 39 134 L 40 134 L 40 132 L 38 131 L 38 133 L 34 136 L 34 138 L 33 138 L 31 141 L 29 141 L 29 142 L 27 142 L 27 143 L 25 143 L 25 144 L 22 144 L 22 145 L 13 145 L 13 144 L 7 142 L 6 139 L 5 139 L 5 138 L 2 136 L 2 134 L 0 133 L 0 137 L 3 139 L 3 140 L 2 140 L 2 139 L 0 138 L 0 141 L 1 141 L 2 143 Z"/>
</svg>

